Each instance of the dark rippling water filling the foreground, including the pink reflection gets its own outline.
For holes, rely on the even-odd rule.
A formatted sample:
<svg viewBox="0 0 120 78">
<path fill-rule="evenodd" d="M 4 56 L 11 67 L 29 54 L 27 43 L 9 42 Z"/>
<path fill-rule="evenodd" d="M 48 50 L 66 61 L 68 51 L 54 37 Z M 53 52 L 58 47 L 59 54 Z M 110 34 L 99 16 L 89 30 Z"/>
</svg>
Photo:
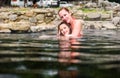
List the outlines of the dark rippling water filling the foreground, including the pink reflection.
<svg viewBox="0 0 120 78">
<path fill-rule="evenodd" d="M 120 78 L 120 31 L 55 34 L 0 34 L 0 78 Z"/>
</svg>

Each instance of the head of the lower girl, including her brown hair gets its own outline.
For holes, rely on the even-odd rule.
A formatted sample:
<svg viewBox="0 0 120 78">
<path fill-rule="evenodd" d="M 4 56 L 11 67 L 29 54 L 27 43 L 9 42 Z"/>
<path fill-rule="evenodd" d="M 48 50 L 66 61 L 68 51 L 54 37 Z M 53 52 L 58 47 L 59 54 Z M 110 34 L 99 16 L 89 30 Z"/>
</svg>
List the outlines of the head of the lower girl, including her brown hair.
<svg viewBox="0 0 120 78">
<path fill-rule="evenodd" d="M 59 25 L 58 25 L 58 34 L 60 36 L 65 36 L 65 35 L 68 35 L 68 34 L 71 34 L 72 33 L 72 30 L 70 28 L 70 25 L 65 23 L 65 22 L 61 22 Z"/>
</svg>

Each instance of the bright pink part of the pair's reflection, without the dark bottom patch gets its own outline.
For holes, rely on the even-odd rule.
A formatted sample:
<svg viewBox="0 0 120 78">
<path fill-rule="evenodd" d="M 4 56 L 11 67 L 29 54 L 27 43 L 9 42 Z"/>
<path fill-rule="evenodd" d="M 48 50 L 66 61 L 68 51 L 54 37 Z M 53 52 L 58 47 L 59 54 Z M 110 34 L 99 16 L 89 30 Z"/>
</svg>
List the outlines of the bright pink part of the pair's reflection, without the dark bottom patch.
<svg viewBox="0 0 120 78">
<path fill-rule="evenodd" d="M 74 49 L 80 49 L 80 42 L 75 38 L 60 37 L 59 38 L 59 62 L 79 63 L 80 60 L 76 57 L 80 56 L 80 52 L 74 52 Z"/>
</svg>

